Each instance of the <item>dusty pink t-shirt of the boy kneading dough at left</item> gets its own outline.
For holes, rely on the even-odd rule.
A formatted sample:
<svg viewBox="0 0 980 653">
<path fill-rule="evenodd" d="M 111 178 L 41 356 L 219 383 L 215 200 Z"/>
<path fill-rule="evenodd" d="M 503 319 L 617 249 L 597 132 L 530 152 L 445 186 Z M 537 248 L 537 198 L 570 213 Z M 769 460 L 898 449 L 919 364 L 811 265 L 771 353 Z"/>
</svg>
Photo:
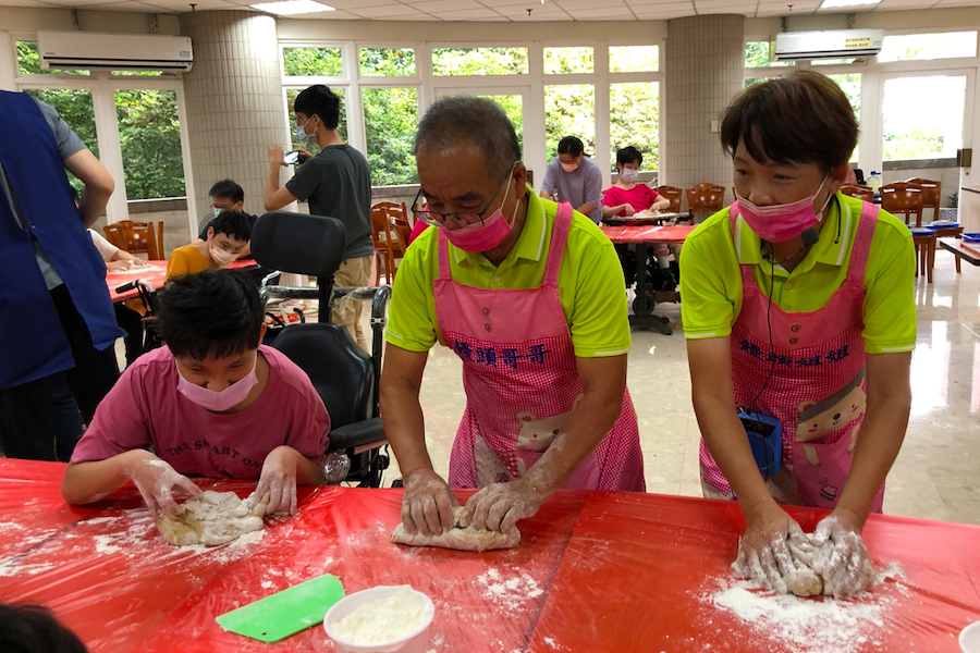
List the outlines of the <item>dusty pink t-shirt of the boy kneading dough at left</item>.
<svg viewBox="0 0 980 653">
<path fill-rule="evenodd" d="M 265 345 L 269 380 L 255 404 L 234 415 L 210 412 L 177 391 L 168 347 L 140 356 L 99 404 L 72 463 L 105 460 L 152 445 L 185 476 L 258 479 L 266 456 L 289 445 L 318 464 L 330 442 L 330 416 L 309 378 Z"/>
</svg>

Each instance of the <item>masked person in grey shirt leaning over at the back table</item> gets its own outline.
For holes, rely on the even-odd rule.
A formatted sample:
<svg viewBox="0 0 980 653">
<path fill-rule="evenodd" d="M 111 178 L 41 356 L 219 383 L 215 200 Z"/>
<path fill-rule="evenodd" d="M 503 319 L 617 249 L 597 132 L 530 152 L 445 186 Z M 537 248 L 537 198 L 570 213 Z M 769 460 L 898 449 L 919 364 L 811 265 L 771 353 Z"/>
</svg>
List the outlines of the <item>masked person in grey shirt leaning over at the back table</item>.
<svg viewBox="0 0 980 653">
<path fill-rule="evenodd" d="M 591 158 L 585 156 L 581 140 L 565 136 L 559 141 L 559 156 L 544 171 L 541 197 L 567 201 L 576 211 L 599 224 L 602 220 L 602 173 Z"/>
</svg>

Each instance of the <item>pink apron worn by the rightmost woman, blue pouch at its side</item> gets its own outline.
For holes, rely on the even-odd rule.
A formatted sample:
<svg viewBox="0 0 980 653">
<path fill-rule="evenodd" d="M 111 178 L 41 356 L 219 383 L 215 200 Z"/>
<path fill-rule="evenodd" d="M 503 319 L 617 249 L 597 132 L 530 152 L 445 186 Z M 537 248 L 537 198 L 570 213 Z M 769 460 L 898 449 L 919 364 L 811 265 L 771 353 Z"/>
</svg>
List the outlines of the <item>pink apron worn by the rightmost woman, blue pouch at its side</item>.
<svg viewBox="0 0 980 653">
<path fill-rule="evenodd" d="M 737 210 L 732 205 L 733 237 Z M 877 223 L 878 207 L 863 204 L 847 278 L 826 306 L 794 313 L 772 305 L 771 349 L 769 298 L 752 278 L 752 266 L 739 266 L 743 306 L 732 328 L 735 403 L 752 409 L 758 395 L 755 409 L 783 426 L 782 467 L 767 479 L 780 503 L 832 508 L 847 480 L 867 405 L 863 281 Z M 700 460 L 702 481 L 731 497 L 732 488 L 703 440 Z M 881 513 L 883 498 L 884 485 L 872 512 Z"/>
</svg>

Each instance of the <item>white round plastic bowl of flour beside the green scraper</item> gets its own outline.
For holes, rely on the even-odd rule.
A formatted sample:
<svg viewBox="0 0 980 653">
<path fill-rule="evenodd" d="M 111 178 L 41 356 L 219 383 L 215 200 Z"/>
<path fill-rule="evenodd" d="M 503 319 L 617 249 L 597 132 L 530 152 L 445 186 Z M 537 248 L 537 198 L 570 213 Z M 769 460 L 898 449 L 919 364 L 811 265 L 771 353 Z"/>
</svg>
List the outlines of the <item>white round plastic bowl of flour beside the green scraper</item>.
<svg viewBox="0 0 980 653">
<path fill-rule="evenodd" d="M 323 629 L 343 653 L 426 653 L 432 601 L 408 586 L 377 587 L 351 594 L 323 618 Z"/>
</svg>

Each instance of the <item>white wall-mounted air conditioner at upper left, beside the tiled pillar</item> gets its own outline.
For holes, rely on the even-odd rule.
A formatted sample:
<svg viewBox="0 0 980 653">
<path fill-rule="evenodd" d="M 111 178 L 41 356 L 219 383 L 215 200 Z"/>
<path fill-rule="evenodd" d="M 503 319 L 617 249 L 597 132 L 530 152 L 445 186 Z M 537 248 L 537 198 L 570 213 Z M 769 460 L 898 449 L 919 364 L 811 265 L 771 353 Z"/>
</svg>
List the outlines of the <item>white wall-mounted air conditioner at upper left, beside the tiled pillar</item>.
<svg viewBox="0 0 980 653">
<path fill-rule="evenodd" d="M 194 63 L 186 36 L 38 32 L 44 70 L 125 70 L 186 73 Z"/>
</svg>

